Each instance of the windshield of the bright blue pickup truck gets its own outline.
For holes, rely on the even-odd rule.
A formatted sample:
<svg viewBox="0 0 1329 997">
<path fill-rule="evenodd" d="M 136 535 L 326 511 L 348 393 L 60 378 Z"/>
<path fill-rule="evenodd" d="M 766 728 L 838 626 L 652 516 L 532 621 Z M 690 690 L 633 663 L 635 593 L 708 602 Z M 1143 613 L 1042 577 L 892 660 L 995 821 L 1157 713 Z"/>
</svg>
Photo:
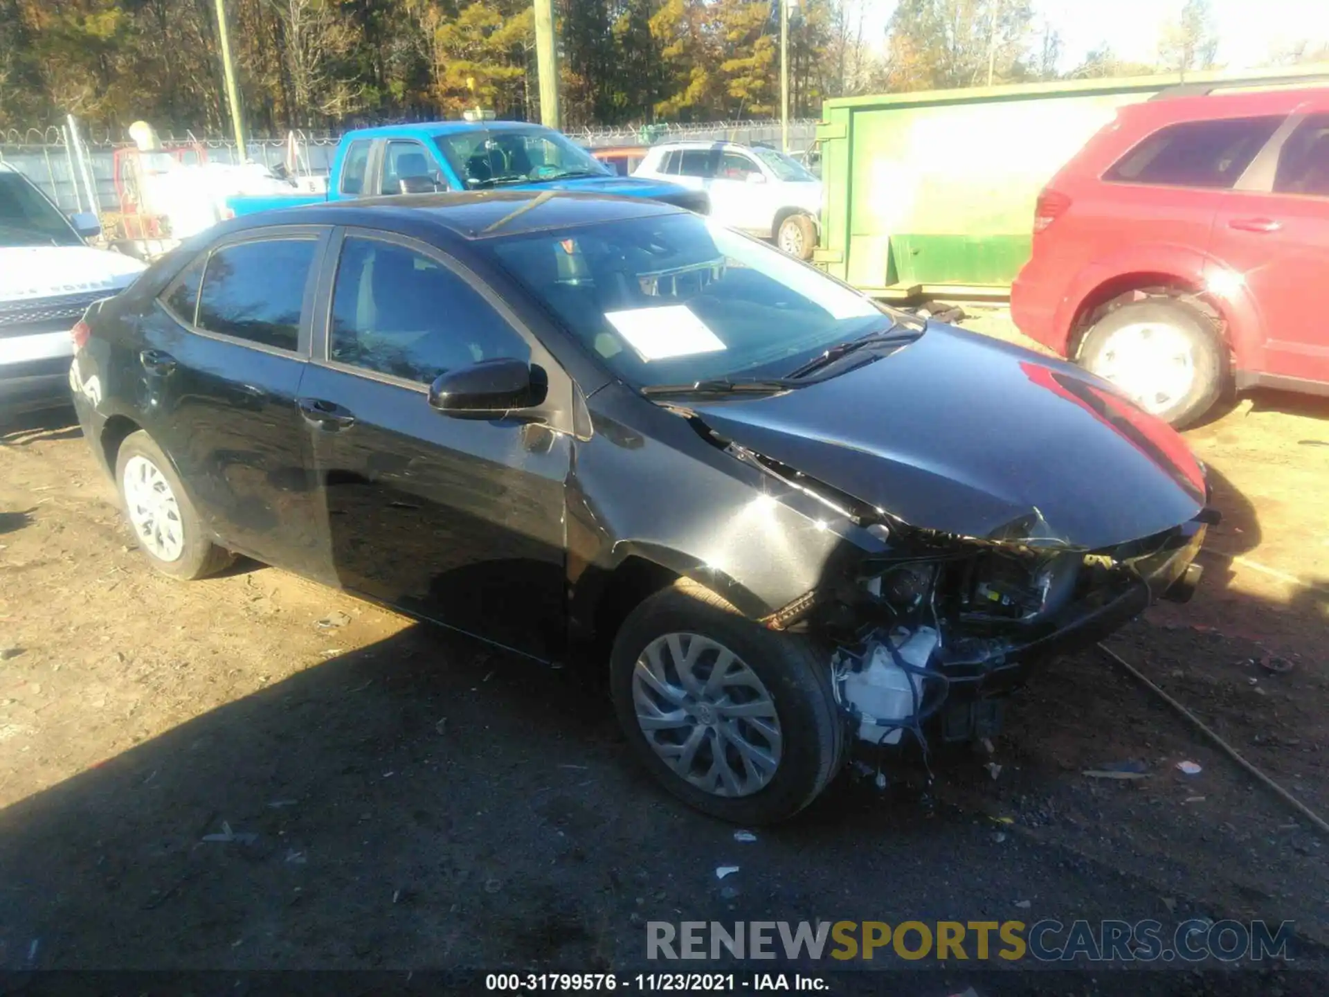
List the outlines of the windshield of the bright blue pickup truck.
<svg viewBox="0 0 1329 997">
<path fill-rule="evenodd" d="M 468 189 L 613 175 L 567 136 L 538 125 L 453 132 L 433 141 Z"/>
</svg>

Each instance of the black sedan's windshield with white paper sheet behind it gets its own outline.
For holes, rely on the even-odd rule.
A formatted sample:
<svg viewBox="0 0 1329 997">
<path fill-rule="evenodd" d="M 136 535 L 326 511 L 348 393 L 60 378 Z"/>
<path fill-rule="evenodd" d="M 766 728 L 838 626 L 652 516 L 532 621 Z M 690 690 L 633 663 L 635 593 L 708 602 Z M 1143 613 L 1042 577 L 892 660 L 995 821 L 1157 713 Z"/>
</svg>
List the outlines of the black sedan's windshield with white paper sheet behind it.
<svg viewBox="0 0 1329 997">
<path fill-rule="evenodd" d="M 896 318 L 695 214 L 505 237 L 489 251 L 638 388 L 784 376 Z"/>
</svg>

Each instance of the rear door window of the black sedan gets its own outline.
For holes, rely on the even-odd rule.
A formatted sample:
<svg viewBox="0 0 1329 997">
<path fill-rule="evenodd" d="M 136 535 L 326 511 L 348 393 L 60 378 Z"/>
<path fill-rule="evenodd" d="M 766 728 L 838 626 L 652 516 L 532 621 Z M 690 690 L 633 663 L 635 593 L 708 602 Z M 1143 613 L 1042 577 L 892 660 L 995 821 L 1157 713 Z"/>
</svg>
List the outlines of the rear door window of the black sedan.
<svg viewBox="0 0 1329 997">
<path fill-rule="evenodd" d="M 259 239 L 213 253 L 198 295 L 198 327 L 296 352 L 300 310 L 318 242 Z"/>
</svg>

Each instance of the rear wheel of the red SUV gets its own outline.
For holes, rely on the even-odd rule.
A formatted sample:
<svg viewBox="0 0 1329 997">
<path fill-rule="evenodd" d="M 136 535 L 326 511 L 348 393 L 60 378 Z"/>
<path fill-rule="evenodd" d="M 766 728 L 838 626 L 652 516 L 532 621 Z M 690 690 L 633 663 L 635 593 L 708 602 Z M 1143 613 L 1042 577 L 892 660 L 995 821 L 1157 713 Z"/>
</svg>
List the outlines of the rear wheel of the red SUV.
<svg viewBox="0 0 1329 997">
<path fill-rule="evenodd" d="M 1176 298 L 1114 308 L 1086 334 L 1078 362 L 1176 428 L 1213 407 L 1228 366 L 1213 319 Z"/>
</svg>

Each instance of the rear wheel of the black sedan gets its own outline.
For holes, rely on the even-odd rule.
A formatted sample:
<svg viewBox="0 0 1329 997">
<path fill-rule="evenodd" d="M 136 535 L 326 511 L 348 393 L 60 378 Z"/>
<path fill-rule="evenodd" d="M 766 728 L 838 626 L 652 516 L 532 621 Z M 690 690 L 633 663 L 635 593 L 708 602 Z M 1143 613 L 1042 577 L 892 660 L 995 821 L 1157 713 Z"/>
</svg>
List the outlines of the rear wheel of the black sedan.
<svg viewBox="0 0 1329 997">
<path fill-rule="evenodd" d="M 193 581 L 235 560 L 213 542 L 174 465 L 142 429 L 120 444 L 116 487 L 140 549 L 162 574 Z"/>
</svg>

